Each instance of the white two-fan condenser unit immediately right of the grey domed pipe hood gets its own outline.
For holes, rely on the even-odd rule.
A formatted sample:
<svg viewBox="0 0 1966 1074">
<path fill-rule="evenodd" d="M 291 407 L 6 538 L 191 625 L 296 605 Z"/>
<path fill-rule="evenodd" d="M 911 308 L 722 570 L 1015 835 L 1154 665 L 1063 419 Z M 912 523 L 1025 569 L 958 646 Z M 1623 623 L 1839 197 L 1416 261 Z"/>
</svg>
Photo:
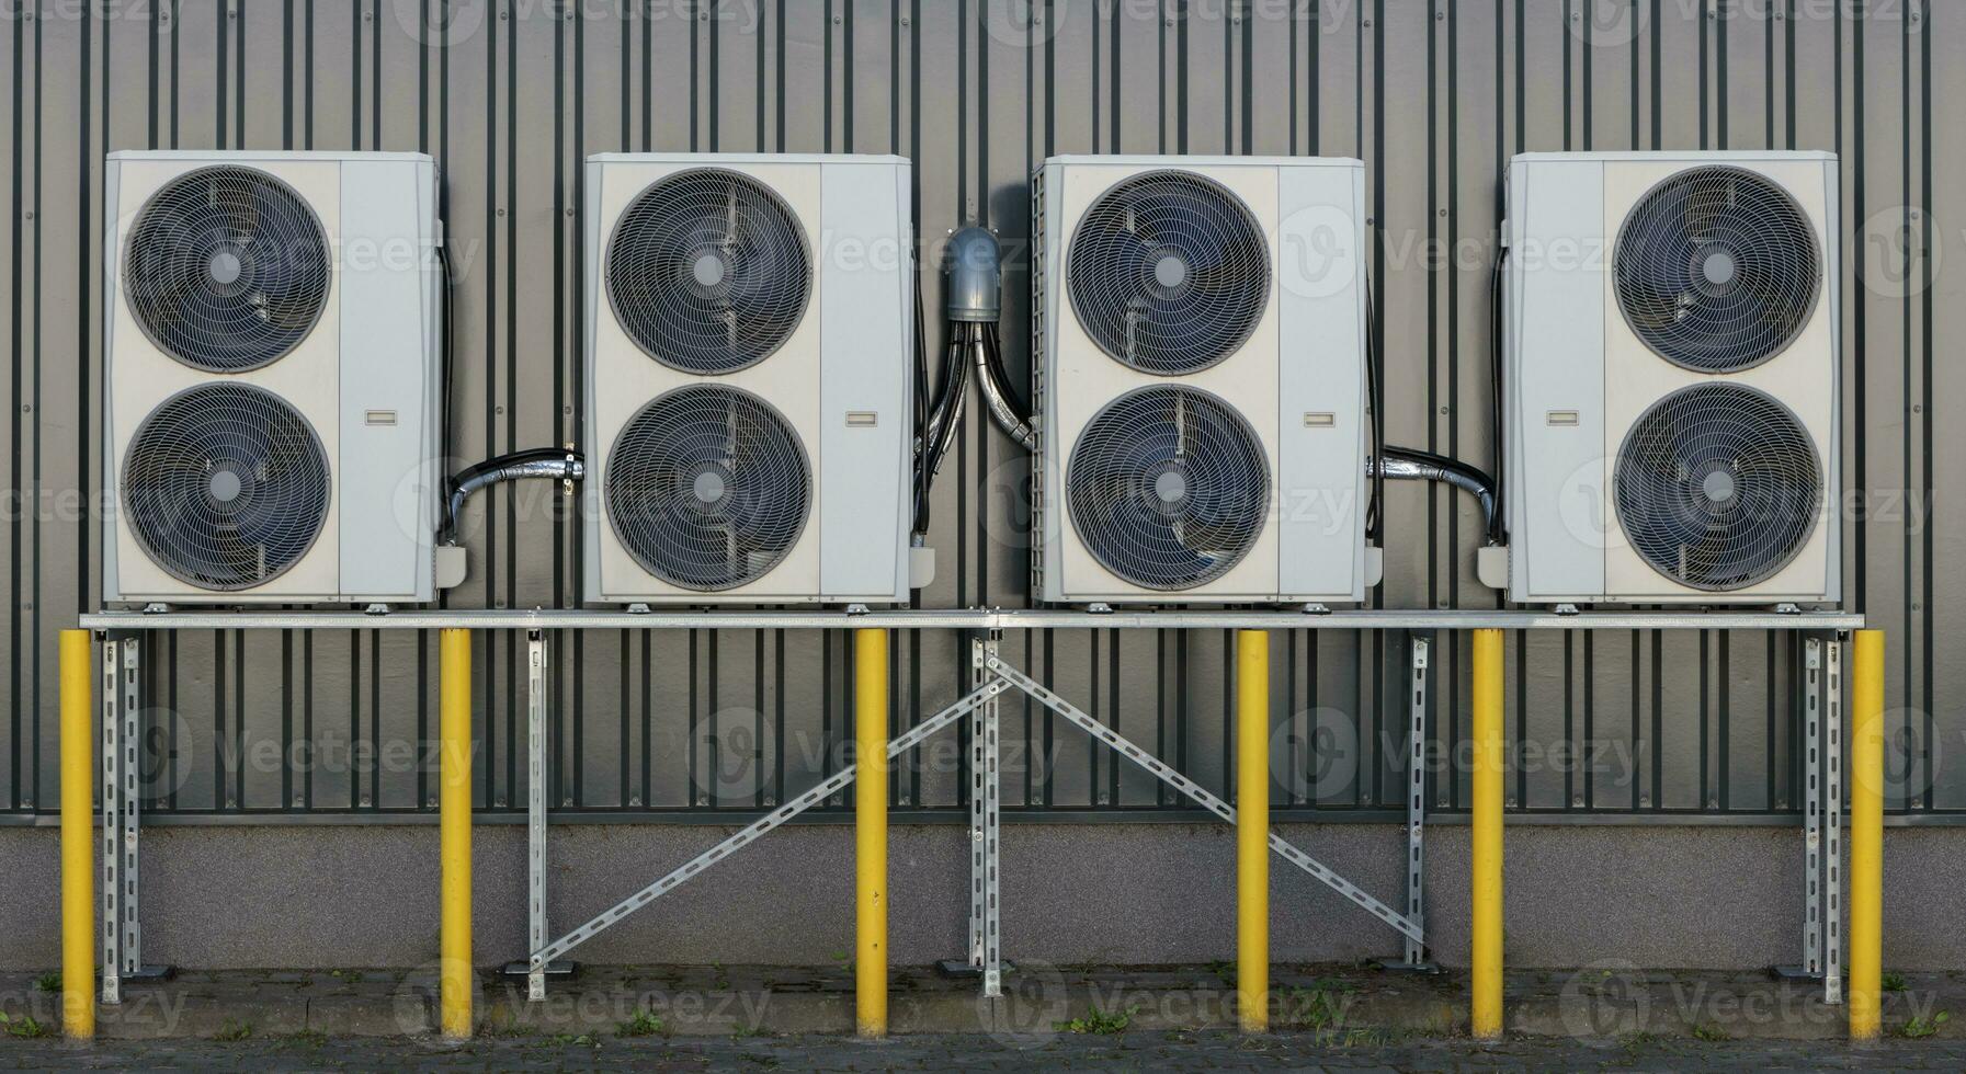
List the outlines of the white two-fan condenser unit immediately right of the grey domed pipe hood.
<svg viewBox="0 0 1966 1074">
<path fill-rule="evenodd" d="M 1360 601 L 1364 165 L 1050 157 L 1032 245 L 1032 593 Z"/>
</svg>

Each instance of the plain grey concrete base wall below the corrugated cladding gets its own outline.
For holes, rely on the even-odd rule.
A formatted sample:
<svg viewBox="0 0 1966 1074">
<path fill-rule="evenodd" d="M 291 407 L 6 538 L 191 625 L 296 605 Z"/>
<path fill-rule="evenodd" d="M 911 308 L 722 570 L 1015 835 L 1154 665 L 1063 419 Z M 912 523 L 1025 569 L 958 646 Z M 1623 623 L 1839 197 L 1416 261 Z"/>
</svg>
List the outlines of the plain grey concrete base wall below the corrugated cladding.
<svg viewBox="0 0 1966 1074">
<path fill-rule="evenodd" d="M 1288 825 L 1288 838 L 1392 905 L 1394 825 Z M 720 840 L 702 825 L 552 829 L 554 935 Z M 1467 960 L 1467 829 L 1427 842 L 1433 956 Z M 1156 964 L 1235 956 L 1235 844 L 1201 825 L 1005 829 L 1005 954 L 1022 962 Z M 896 964 L 967 944 L 967 840 L 954 825 L 895 829 Z M 1508 964 L 1762 968 L 1801 958 L 1801 832 L 1740 827 L 1535 827 L 1508 832 Z M 0 970 L 59 962 L 53 829 L 0 829 Z M 185 968 L 423 966 L 436 958 L 434 827 L 157 827 L 144 834 L 144 954 Z M 476 952 L 525 956 L 525 829 L 474 844 Z M 1392 929 L 1272 860 L 1280 962 L 1380 958 Z M 1966 964 L 1966 831 L 1885 834 L 1885 964 Z M 781 829 L 574 952 L 596 964 L 828 964 L 853 948 L 853 842 L 836 825 Z"/>
</svg>

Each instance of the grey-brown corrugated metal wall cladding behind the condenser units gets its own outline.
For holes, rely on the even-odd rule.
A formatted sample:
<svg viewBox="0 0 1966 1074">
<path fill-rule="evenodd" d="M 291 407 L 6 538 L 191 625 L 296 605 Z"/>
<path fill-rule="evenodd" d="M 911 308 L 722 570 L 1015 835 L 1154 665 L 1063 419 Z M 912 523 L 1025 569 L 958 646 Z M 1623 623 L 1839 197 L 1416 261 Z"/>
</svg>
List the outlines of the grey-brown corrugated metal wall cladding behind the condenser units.
<svg viewBox="0 0 1966 1074">
<path fill-rule="evenodd" d="M 1848 603 L 1889 630 L 1895 803 L 1966 809 L 1946 571 L 1966 509 L 1933 495 L 1960 436 L 1935 406 L 1966 383 L 1935 359 L 1966 316 L 1940 273 L 1942 190 L 1966 175 L 1946 102 L 1966 100 L 1962 20 L 1927 4 L 1767 0 L 232 0 L 24 2 L 0 20 L 0 381 L 14 510 L 0 624 L 10 734 L 0 801 L 53 805 L 53 630 L 92 607 L 100 467 L 102 153 L 124 147 L 423 149 L 444 169 L 458 271 L 458 461 L 580 440 L 580 161 L 607 149 L 896 151 L 916 161 L 922 234 L 997 226 L 1012 253 L 1014 371 L 1026 177 L 1064 151 L 1360 155 L 1388 436 L 1486 465 L 1488 259 L 1502 163 L 1522 149 L 1817 147 L 1844 159 Z M 1935 39 L 1937 37 L 1937 39 Z M 1952 41 L 1952 47 L 1946 45 Z M 1935 65 L 1935 57 L 1938 63 Z M 924 279 L 940 306 L 936 273 Z M 977 418 L 934 505 L 934 607 L 1026 601 L 1018 450 Z M 81 493 L 79 493 L 81 491 Z M 450 607 L 578 599 L 580 518 L 503 487 L 466 518 L 472 579 Z M 1478 518 L 1396 485 L 1384 607 L 1488 607 Z M 1227 774 L 1227 640 L 1020 634 L 1009 650 L 1189 774 Z M 1402 636 L 1278 638 L 1292 803 L 1396 803 Z M 149 646 L 159 807 L 419 809 L 431 725 L 427 636 L 199 632 Z M 940 634 L 902 636 L 896 717 L 967 679 Z M 478 652 L 482 795 L 523 795 L 523 638 Z M 1771 634 L 1518 636 L 1512 730 L 1533 750 L 1512 799 L 1535 809 L 1783 811 L 1793 801 L 1791 640 Z M 839 762 L 839 638 L 798 632 L 558 636 L 554 797 L 564 807 L 757 807 Z M 1437 662 L 1435 736 L 1465 732 L 1465 644 Z M 1447 685 L 1453 683 L 1451 689 Z M 1282 717 L 1280 717 L 1282 723 Z M 1012 803 L 1138 807 L 1050 715 L 1011 711 Z M 1058 734 L 1054 734 L 1058 732 Z M 175 742 L 175 750 L 171 744 Z M 405 754 L 407 750 L 407 754 Z M 265 756 L 271 752 L 273 760 Z M 364 754 L 368 760 L 364 760 Z M 405 760 L 405 756 L 409 760 Z M 283 764 L 281 758 L 313 758 Z M 356 760 L 350 760 L 356 758 Z M 720 758 L 723 764 L 720 764 Z M 1569 758 L 1569 760 L 1567 760 Z M 1581 758 L 1581 760 L 1577 760 Z M 377 764 L 379 762 L 379 764 Z M 959 801 L 954 754 L 896 774 L 896 801 Z M 1455 766 L 1439 801 L 1467 793 Z"/>
</svg>

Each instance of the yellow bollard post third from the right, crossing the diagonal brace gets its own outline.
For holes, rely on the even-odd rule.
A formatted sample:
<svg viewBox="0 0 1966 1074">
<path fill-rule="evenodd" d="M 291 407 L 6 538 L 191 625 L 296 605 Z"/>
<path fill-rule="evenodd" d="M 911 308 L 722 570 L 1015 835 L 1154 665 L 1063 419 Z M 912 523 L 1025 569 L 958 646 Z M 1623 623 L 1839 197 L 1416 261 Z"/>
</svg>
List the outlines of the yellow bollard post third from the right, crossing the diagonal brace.
<svg viewBox="0 0 1966 1074">
<path fill-rule="evenodd" d="M 1235 636 L 1235 956 L 1243 1033 L 1270 1029 L 1270 634 Z"/>
</svg>

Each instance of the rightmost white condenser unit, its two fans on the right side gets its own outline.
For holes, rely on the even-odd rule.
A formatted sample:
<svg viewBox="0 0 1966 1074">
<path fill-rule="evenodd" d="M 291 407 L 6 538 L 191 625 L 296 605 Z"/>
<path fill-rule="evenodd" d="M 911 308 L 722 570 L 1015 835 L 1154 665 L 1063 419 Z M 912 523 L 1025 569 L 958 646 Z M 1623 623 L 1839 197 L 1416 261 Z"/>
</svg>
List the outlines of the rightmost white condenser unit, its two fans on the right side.
<svg viewBox="0 0 1966 1074">
<path fill-rule="evenodd" d="M 1510 161 L 1512 601 L 1838 603 L 1838 206 L 1832 153 Z"/>
</svg>

